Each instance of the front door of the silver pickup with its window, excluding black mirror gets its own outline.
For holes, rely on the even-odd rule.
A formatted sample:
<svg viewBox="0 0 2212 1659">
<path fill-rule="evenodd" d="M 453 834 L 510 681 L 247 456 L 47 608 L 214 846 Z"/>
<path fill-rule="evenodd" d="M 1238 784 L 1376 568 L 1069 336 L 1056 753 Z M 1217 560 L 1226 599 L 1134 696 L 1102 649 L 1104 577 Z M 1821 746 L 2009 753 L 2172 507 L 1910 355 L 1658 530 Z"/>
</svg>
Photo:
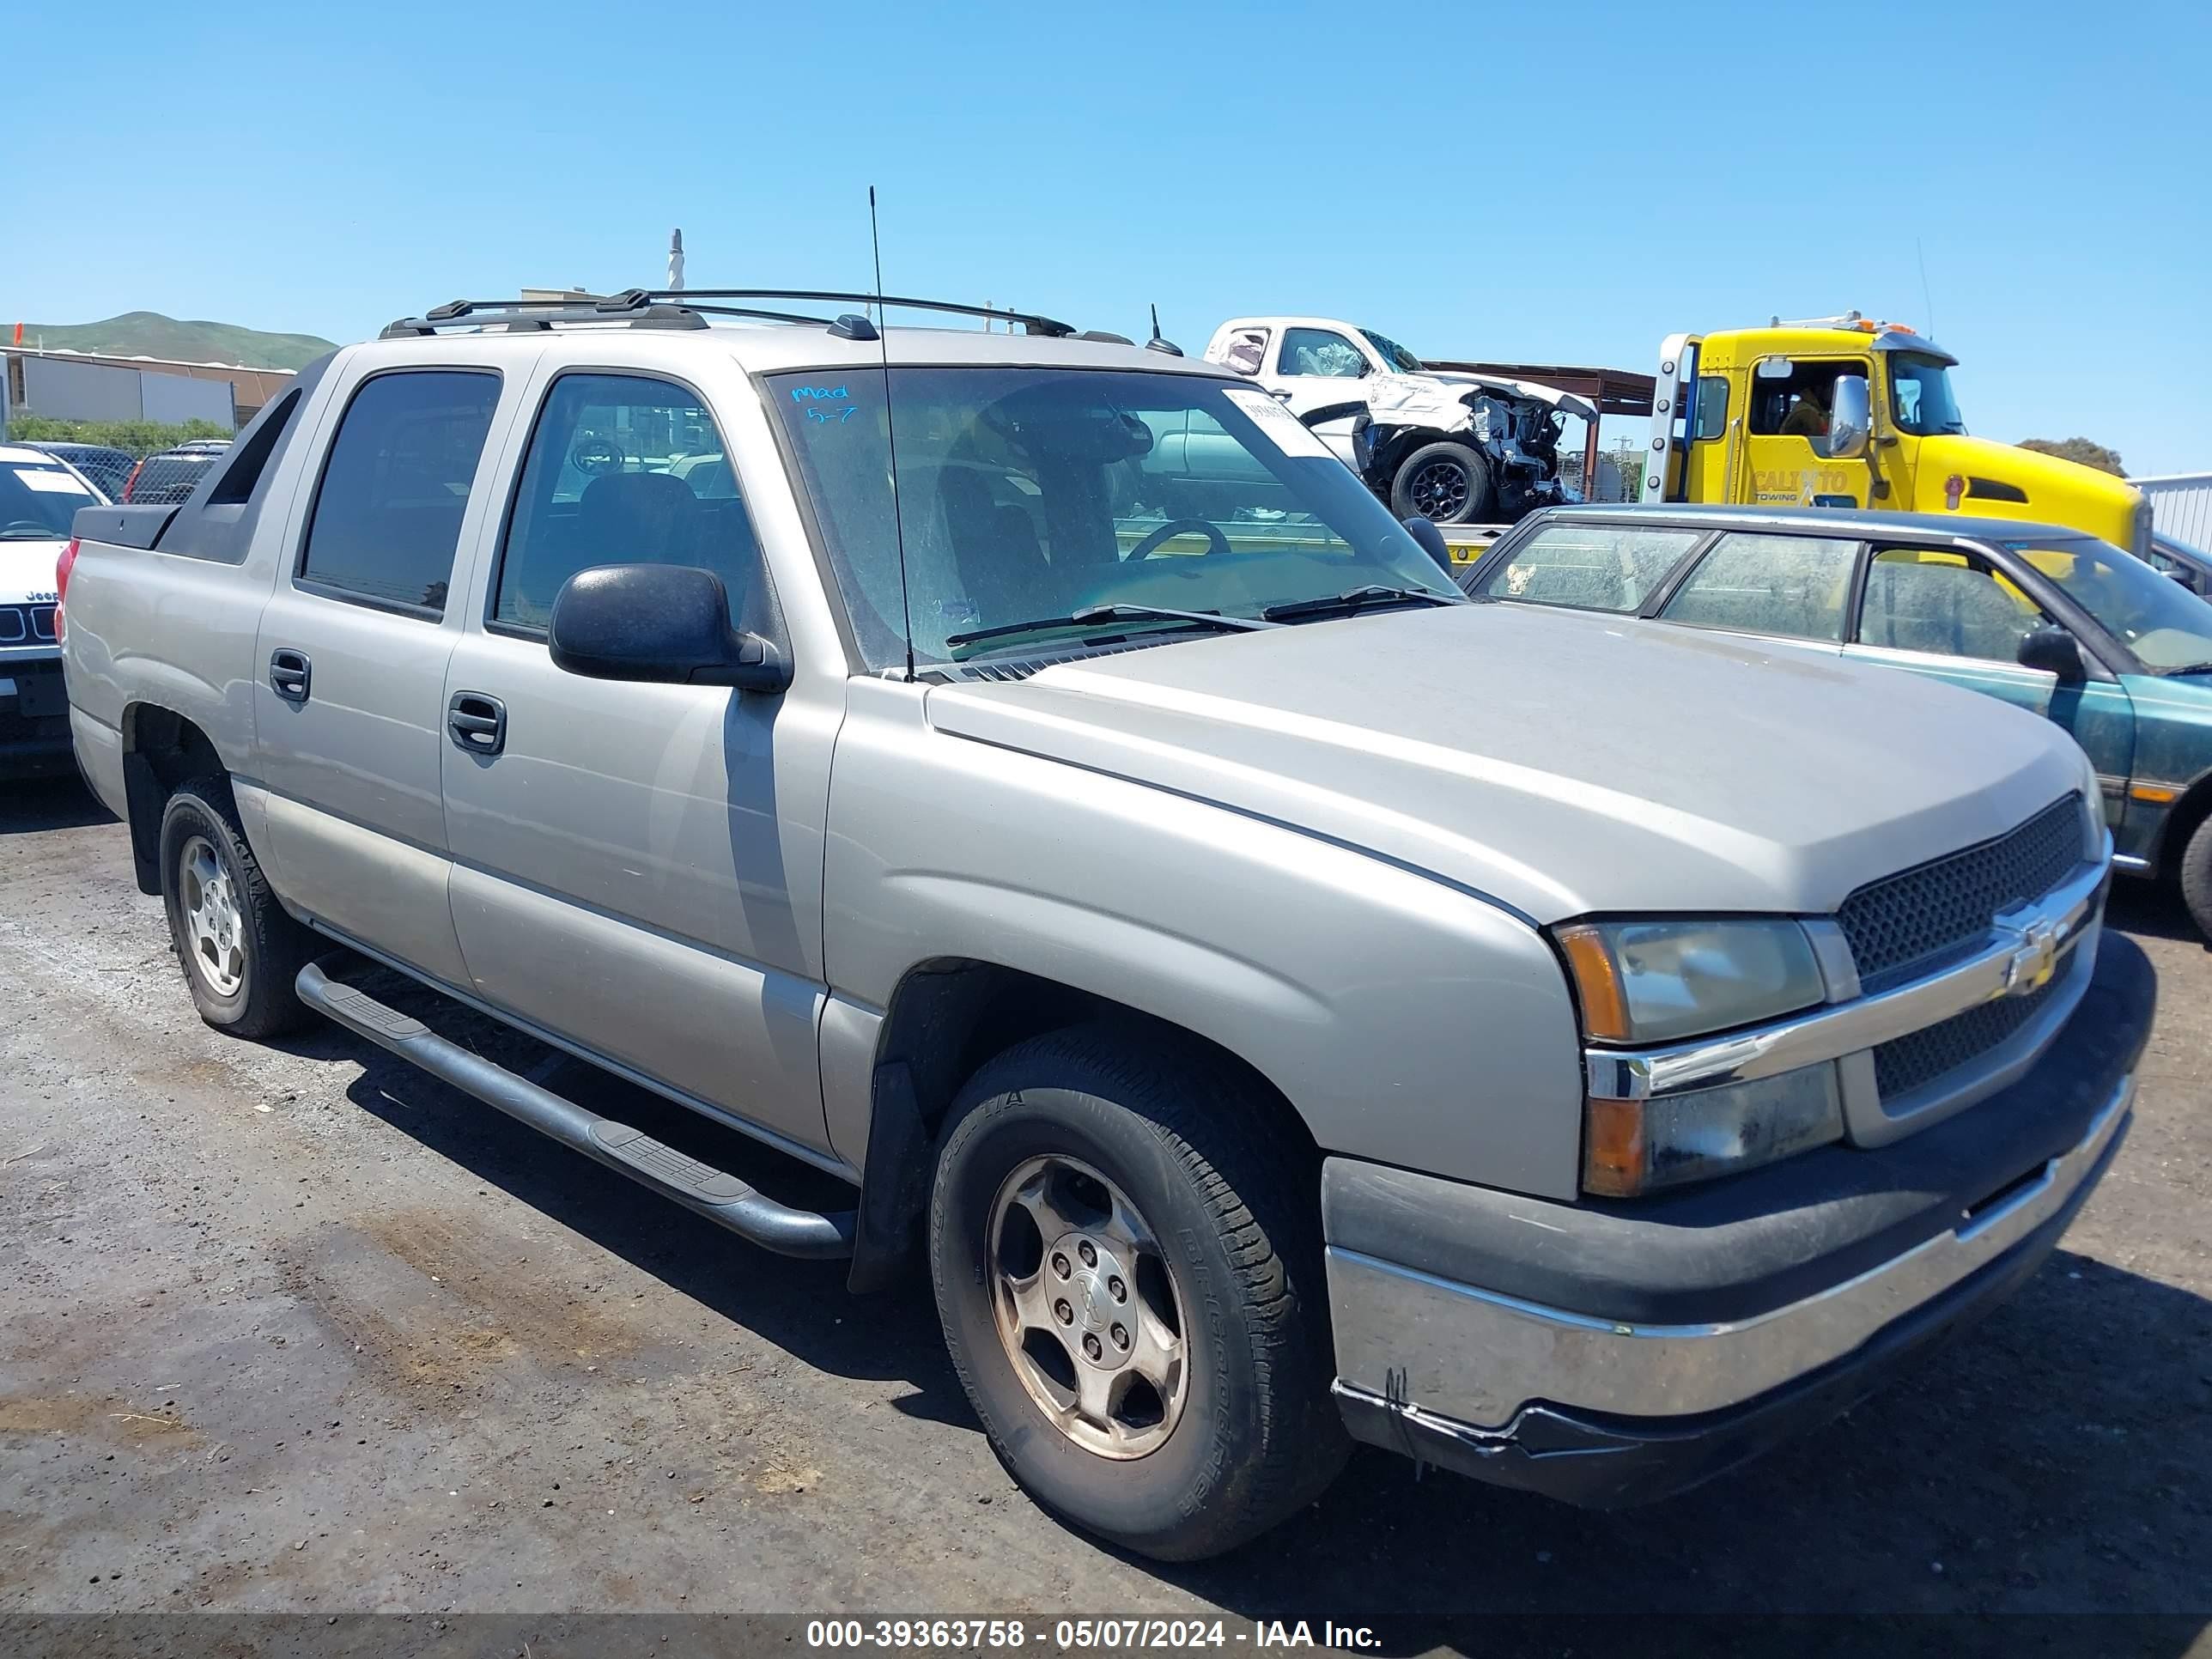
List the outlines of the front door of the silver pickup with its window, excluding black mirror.
<svg viewBox="0 0 2212 1659">
<path fill-rule="evenodd" d="M 562 582 L 595 564 L 706 566 L 737 626 L 781 633 L 714 416 L 675 380 L 564 372 L 520 471 L 445 681 L 476 993 L 821 1152 L 823 849 L 779 812 L 779 752 L 807 772 L 790 759 L 805 739 L 779 745 L 776 697 L 582 679 L 546 655 Z"/>
</svg>

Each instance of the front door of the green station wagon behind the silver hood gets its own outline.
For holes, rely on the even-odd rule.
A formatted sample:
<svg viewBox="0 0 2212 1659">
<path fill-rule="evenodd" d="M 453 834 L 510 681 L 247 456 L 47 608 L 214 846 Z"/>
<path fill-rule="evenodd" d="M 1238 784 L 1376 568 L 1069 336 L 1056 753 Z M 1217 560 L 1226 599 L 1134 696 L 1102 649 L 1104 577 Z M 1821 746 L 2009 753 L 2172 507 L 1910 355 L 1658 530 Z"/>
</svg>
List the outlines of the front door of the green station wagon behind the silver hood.
<svg viewBox="0 0 2212 1659">
<path fill-rule="evenodd" d="M 2002 697 L 2064 726 L 2097 768 L 2104 818 L 2117 825 L 2135 763 L 2135 706 L 2095 661 L 2079 684 L 2022 668 L 2022 637 L 2051 626 L 2053 617 L 1980 553 L 1876 546 L 1845 655 Z"/>
</svg>

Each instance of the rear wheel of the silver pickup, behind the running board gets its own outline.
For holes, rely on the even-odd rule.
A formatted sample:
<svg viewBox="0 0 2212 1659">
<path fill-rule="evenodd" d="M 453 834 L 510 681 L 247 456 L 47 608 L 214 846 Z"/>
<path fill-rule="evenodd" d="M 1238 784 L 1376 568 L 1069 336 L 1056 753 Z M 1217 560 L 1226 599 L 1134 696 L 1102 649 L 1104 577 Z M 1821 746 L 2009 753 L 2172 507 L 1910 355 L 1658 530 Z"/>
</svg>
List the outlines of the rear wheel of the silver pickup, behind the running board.
<svg viewBox="0 0 2212 1659">
<path fill-rule="evenodd" d="M 292 989 L 307 929 L 261 876 L 226 779 L 181 783 L 161 810 L 161 905 L 201 1020 L 234 1037 L 307 1020 Z"/>
</svg>

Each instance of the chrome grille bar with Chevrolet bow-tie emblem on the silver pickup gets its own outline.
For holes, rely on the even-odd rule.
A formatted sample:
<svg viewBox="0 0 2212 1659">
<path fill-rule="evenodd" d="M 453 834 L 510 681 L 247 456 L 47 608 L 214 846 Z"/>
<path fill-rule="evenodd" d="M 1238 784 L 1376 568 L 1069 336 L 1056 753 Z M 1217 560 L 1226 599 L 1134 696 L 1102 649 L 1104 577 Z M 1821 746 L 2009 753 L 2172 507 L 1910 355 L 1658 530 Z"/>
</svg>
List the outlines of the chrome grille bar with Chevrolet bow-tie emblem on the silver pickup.
<svg viewBox="0 0 2212 1659">
<path fill-rule="evenodd" d="M 2079 865 L 2064 885 L 2037 902 L 2000 916 L 1989 942 L 1975 956 L 1893 991 L 1834 1002 L 1728 1037 L 1699 1037 L 1626 1053 L 1586 1048 L 1584 1075 L 1590 1095 L 1652 1099 L 1772 1077 L 1907 1037 L 1982 1002 L 2037 991 L 2051 982 L 2095 920 L 2106 876 L 2104 858 Z"/>
</svg>

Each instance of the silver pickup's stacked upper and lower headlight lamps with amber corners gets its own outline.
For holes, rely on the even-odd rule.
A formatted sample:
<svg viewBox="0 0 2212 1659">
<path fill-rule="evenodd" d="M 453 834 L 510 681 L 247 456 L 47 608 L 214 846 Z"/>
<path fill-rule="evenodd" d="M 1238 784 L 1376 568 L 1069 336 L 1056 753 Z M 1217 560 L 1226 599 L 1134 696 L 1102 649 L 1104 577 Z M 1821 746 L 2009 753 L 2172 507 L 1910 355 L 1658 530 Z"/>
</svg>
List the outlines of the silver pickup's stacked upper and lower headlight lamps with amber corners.
<svg viewBox="0 0 2212 1659">
<path fill-rule="evenodd" d="M 1557 931 L 1593 1044 L 1668 1044 L 1827 1000 L 1805 929 L 1759 922 L 1577 922 Z M 1635 1055 L 1593 1053 L 1586 1192 L 1630 1197 L 1770 1164 L 1843 1137 L 1836 1066 L 1648 1097 Z M 1601 1075 L 1621 1079 L 1606 1088 Z"/>
</svg>

